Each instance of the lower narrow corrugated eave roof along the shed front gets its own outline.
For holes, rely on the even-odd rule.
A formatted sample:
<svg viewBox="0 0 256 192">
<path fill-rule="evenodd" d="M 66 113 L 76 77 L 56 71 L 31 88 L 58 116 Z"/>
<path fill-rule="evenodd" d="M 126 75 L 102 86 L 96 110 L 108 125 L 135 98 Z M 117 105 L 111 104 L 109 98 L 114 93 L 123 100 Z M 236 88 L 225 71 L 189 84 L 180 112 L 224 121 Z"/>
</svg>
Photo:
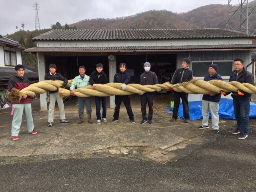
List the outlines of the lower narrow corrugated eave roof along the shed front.
<svg viewBox="0 0 256 192">
<path fill-rule="evenodd" d="M 188 45 L 188 46 L 121 46 L 121 47 L 33 47 L 25 52 L 72 52 L 72 51 L 134 51 L 134 50 L 200 50 L 200 49 L 256 49 L 256 44 L 236 45 Z"/>
</svg>

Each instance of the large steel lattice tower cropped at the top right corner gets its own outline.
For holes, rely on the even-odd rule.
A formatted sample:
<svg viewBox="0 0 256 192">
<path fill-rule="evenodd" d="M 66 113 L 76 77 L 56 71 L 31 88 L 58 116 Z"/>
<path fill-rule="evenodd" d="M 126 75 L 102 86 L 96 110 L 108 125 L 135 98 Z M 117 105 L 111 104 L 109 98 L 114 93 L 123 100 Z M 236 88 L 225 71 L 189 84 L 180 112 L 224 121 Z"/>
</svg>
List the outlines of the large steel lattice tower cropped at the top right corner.
<svg viewBox="0 0 256 192">
<path fill-rule="evenodd" d="M 226 29 L 256 34 L 256 3 L 250 0 L 237 0 L 238 4 L 231 4 L 228 0 L 228 14 Z"/>
</svg>

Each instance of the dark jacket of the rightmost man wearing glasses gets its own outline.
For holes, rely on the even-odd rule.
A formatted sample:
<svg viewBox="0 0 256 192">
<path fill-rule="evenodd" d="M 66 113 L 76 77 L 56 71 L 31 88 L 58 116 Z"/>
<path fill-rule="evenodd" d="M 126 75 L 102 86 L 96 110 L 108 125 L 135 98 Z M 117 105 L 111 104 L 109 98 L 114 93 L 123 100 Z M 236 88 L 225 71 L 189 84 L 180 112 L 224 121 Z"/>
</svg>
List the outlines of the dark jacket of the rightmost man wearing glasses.
<svg viewBox="0 0 256 192">
<path fill-rule="evenodd" d="M 243 67 L 242 72 L 240 72 L 238 75 L 236 74 L 236 70 L 232 71 L 232 74 L 230 75 L 229 82 L 230 81 L 238 81 L 240 83 L 250 83 L 254 85 L 254 77 L 253 75 L 246 71 L 245 68 Z M 239 95 L 238 93 L 233 93 L 232 98 L 234 100 L 241 100 L 241 99 L 247 99 L 252 96 L 252 94 L 245 93 L 244 96 Z"/>
</svg>

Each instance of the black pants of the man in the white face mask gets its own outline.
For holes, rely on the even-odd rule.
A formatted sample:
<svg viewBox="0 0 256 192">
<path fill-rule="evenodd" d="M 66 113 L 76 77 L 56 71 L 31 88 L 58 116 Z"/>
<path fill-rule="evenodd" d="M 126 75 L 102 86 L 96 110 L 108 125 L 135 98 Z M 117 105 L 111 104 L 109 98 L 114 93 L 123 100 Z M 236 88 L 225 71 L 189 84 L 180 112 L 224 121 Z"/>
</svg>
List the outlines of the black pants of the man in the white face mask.
<svg viewBox="0 0 256 192">
<path fill-rule="evenodd" d="M 148 104 L 148 120 L 152 120 L 154 113 L 154 95 L 143 94 L 140 96 L 142 119 L 147 120 L 146 106 Z"/>
</svg>

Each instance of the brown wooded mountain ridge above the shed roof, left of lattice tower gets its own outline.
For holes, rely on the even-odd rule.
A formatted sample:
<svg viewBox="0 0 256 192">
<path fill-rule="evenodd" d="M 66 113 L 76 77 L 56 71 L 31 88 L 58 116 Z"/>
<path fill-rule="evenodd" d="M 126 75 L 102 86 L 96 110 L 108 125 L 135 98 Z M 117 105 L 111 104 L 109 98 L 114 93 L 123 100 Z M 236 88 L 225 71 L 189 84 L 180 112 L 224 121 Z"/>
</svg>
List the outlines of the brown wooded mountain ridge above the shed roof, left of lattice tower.
<svg viewBox="0 0 256 192">
<path fill-rule="evenodd" d="M 211 4 L 185 13 L 150 10 L 114 19 L 86 19 L 69 26 L 78 29 L 225 28 L 228 5 Z"/>
</svg>

